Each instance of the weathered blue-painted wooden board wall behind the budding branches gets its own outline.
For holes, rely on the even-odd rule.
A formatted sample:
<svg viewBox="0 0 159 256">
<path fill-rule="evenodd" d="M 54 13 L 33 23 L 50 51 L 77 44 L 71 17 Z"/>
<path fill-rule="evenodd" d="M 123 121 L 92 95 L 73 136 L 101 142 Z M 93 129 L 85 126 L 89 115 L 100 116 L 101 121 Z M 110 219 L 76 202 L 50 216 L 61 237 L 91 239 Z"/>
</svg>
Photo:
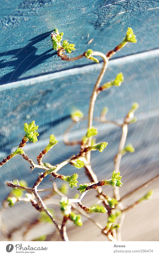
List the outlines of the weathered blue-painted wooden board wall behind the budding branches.
<svg viewBox="0 0 159 256">
<path fill-rule="evenodd" d="M 89 97 L 102 64 L 93 64 L 84 58 L 72 63 L 61 61 L 52 49 L 50 33 L 53 29 L 63 31 L 64 38 L 76 45 L 76 51 L 71 54 L 75 56 L 89 48 L 106 53 L 121 42 L 127 27 L 132 27 L 138 43 L 128 45 L 114 56 L 103 79 L 103 82 L 107 81 L 122 72 L 125 81 L 121 87 L 100 94 L 95 115 L 98 116 L 106 105 L 108 119 L 122 119 L 133 101 L 140 104 L 137 111 L 139 121 L 130 127 L 127 140 L 134 144 L 136 153 L 129 160 L 123 160 L 123 168 L 132 161 L 129 172 L 140 164 L 144 169 L 146 161 L 151 160 L 159 147 L 159 1 L 4 0 L 0 2 L 0 8 L 1 157 L 21 140 L 24 122 L 34 119 L 40 126 L 40 136 L 37 144 L 29 144 L 26 148 L 30 156 L 35 158 L 38 155 L 52 132 L 59 138 L 60 147 L 49 153 L 51 162 L 55 164 L 60 158 L 71 155 L 63 145 L 61 135 L 70 122 L 72 110 L 80 108 L 87 115 Z M 94 39 L 91 45 L 88 44 L 90 39 Z M 139 153 L 154 122 L 151 141 Z M 85 133 L 83 127 L 81 123 L 75 128 L 72 138 L 82 136 Z M 96 172 L 100 178 L 113 169 L 112 160 L 119 137 L 112 142 L 116 132 L 114 126 L 107 129 L 99 126 L 99 130 L 98 140 L 106 137 L 110 144 L 107 150 L 109 161 L 106 151 L 101 158 L 94 153 L 97 158 L 93 158 L 93 166 L 99 164 Z M 9 162 L 13 178 L 19 175 L 31 185 L 36 174 L 30 175 L 28 164 L 19 160 L 18 156 Z M 26 169 L 22 168 L 24 164 Z M 71 169 L 67 166 L 64 173 L 66 170 L 72 173 Z M 5 188 L 5 167 L 1 168 L 1 178 L 1 187 Z M 1 193 L 3 198 L 4 194 L 7 194 L 7 189 Z"/>
</svg>

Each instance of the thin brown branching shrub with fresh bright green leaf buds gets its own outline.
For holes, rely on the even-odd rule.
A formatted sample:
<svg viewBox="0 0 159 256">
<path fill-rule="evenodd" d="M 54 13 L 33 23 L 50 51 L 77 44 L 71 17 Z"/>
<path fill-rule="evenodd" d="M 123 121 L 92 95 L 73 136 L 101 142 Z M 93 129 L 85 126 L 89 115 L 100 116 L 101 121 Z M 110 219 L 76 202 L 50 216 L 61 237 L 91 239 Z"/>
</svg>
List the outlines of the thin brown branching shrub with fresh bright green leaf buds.
<svg viewBox="0 0 159 256">
<path fill-rule="evenodd" d="M 64 143 L 67 145 L 79 144 L 80 151 L 78 154 L 70 156 L 70 158 L 62 161 L 59 164 L 52 165 L 51 163 L 44 163 L 43 156 L 47 152 L 49 152 L 49 150 L 53 150 L 52 148 L 56 147 L 56 144 L 58 143 L 55 135 L 51 134 L 48 140 L 48 145 L 46 145 L 44 150 L 38 154 L 37 163 L 34 163 L 33 160 L 26 155 L 24 148 L 27 142 L 30 141 L 32 143 L 36 143 L 38 141 L 38 125 L 35 124 L 35 121 L 32 121 L 29 124 L 25 123 L 24 137 L 22 138 L 21 143 L 14 152 L 10 153 L 9 156 L 4 158 L 0 162 L 0 167 L 7 163 L 14 156 L 20 155 L 24 158 L 24 160 L 29 162 L 32 171 L 40 169 L 42 170 L 42 172 L 39 174 L 39 177 L 35 181 L 32 188 L 28 187 L 25 181 L 13 180 L 7 182 L 7 186 L 11 188 L 11 191 L 10 194 L 7 196 L 6 200 L 4 201 L 3 207 L 6 206 L 6 204 L 8 204 L 9 207 L 13 207 L 14 204 L 19 201 L 30 202 L 32 206 L 35 207 L 35 209 L 39 212 L 39 218 L 37 220 L 37 223 L 52 223 L 58 230 L 62 241 L 68 241 L 66 229 L 67 222 L 72 222 L 76 227 L 82 226 L 82 215 L 84 215 L 96 226 L 98 226 L 98 228 L 101 230 L 101 233 L 106 236 L 107 239 L 109 239 L 110 241 L 121 240 L 120 228 L 123 222 L 125 212 L 136 206 L 137 204 L 141 203 L 143 200 L 148 200 L 152 195 L 152 191 L 149 191 L 147 194 L 143 195 L 142 198 L 139 198 L 136 202 L 126 208 L 122 204 L 123 199 L 125 197 L 129 197 L 141 187 L 148 185 L 148 183 L 152 182 L 158 176 L 154 177 L 145 184 L 142 184 L 139 188 L 136 188 L 134 191 L 129 192 L 121 198 L 119 193 L 119 189 L 123 185 L 122 176 L 119 171 L 121 158 L 127 152 L 134 152 L 134 147 L 131 144 L 125 145 L 128 133 L 128 126 L 136 121 L 136 118 L 134 117 L 134 112 L 137 110 L 138 104 L 133 103 L 131 109 L 128 110 L 127 114 L 125 115 L 122 124 L 119 124 L 116 121 L 112 121 L 113 124 L 120 126 L 120 128 L 122 129 L 122 136 L 119 143 L 118 153 L 114 157 L 114 170 L 112 170 L 110 179 L 103 179 L 99 181 L 95 172 L 91 168 L 91 152 L 96 150 L 99 151 L 99 154 L 103 151 L 105 153 L 105 150 L 107 151 L 106 147 L 108 143 L 105 141 L 98 144 L 95 143 L 95 136 L 98 134 L 98 131 L 96 128 L 93 127 L 93 120 L 95 119 L 93 113 L 97 95 L 110 87 L 121 86 L 124 80 L 123 74 L 119 73 L 116 75 L 113 81 L 106 81 L 104 84 L 101 84 L 102 78 L 107 69 L 109 59 L 112 57 L 112 55 L 122 49 L 127 43 L 136 43 L 136 36 L 134 35 L 133 30 L 128 27 L 126 36 L 123 39 L 122 43 L 116 46 L 113 50 L 109 51 L 106 55 L 102 52 L 88 49 L 81 55 L 71 58 L 69 57 L 69 54 L 72 51 L 75 51 L 75 45 L 73 43 L 69 43 L 67 40 L 62 41 L 63 35 L 64 33 L 59 33 L 57 29 L 55 29 L 54 32 L 51 33 L 53 49 L 57 52 L 57 55 L 59 56 L 59 58 L 61 58 L 61 60 L 76 61 L 80 58 L 87 58 L 90 61 L 99 63 L 98 57 L 101 57 L 103 59 L 103 66 L 101 68 L 101 72 L 92 91 L 88 109 L 88 117 L 85 117 L 85 119 L 88 120 L 88 126 L 86 128 L 85 136 L 83 136 L 80 141 L 69 141 L 68 139 L 70 129 L 74 125 L 76 125 L 77 122 L 84 119 L 83 113 L 80 110 L 76 110 L 71 113 L 70 117 L 72 123 L 64 134 Z M 107 108 L 103 109 L 103 111 L 101 112 L 101 117 L 99 118 L 99 122 L 103 122 L 104 124 L 111 122 L 108 121 L 105 117 L 107 110 Z M 60 169 L 67 164 L 71 164 L 76 167 L 77 173 L 73 173 L 70 176 L 60 174 Z M 79 169 L 81 168 L 85 168 L 85 173 L 88 176 L 90 182 L 78 184 L 78 174 L 80 172 Z M 55 182 L 52 183 L 53 186 L 52 189 L 49 189 L 49 194 L 46 194 L 44 198 L 41 198 L 41 191 L 47 191 L 47 189 L 39 189 L 39 185 L 47 175 L 49 175 L 49 177 L 53 179 L 61 179 L 63 184 L 67 183 L 69 184 L 71 189 L 76 189 L 76 198 L 71 199 L 67 197 L 65 187 L 62 186 L 59 189 Z M 110 197 L 104 193 L 104 186 L 110 186 L 113 188 L 113 197 Z M 82 204 L 82 199 L 84 198 L 85 194 L 91 193 L 91 190 L 95 190 L 97 192 L 98 201 L 96 200 L 96 198 L 94 198 L 94 205 L 88 207 Z M 48 209 L 45 204 L 45 201 L 48 198 L 53 198 L 56 194 L 59 194 L 61 197 L 61 200 L 59 201 L 59 209 L 61 210 L 63 216 L 61 220 L 59 220 L 59 218 L 56 219 L 52 209 Z M 77 214 L 77 212 L 79 214 Z M 91 213 L 104 214 L 105 226 L 102 226 L 100 223 L 93 220 L 93 218 L 91 217 Z M 32 224 L 30 225 L 30 227 L 31 226 Z M 45 239 L 46 237 L 42 236 L 37 240 Z"/>
</svg>

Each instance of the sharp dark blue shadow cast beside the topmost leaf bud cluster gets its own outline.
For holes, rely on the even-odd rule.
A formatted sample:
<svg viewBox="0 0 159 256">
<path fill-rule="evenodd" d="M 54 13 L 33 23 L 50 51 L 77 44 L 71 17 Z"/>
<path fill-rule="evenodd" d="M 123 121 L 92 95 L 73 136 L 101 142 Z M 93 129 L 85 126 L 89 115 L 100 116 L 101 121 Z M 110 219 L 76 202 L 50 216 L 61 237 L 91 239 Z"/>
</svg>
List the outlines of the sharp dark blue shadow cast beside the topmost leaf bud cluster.
<svg viewBox="0 0 159 256">
<path fill-rule="evenodd" d="M 51 32 L 52 31 L 48 31 L 32 38 L 29 40 L 29 43 L 22 48 L 2 52 L 0 54 L 0 56 L 3 58 L 3 60 L 1 60 L 1 68 L 9 69 L 10 66 L 13 68 L 11 72 L 1 76 L 0 83 L 10 83 L 19 80 L 22 74 L 24 74 L 26 71 L 41 63 L 44 63 L 46 59 L 55 55 L 56 53 L 52 53 L 52 48 L 41 54 L 37 54 L 38 48 L 35 46 L 36 43 L 39 43 L 50 36 Z M 11 58 L 5 62 L 5 56 L 8 55 L 11 55 Z"/>
</svg>

